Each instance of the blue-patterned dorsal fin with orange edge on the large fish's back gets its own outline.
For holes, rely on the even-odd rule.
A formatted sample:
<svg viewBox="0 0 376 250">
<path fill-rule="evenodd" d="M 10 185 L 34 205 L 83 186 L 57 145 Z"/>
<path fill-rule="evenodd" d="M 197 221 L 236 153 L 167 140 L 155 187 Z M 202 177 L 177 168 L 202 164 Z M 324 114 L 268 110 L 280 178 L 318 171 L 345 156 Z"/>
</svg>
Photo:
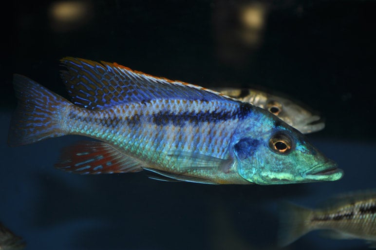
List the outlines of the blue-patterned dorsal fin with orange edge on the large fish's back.
<svg viewBox="0 0 376 250">
<path fill-rule="evenodd" d="M 117 63 L 71 57 L 60 61 L 67 68 L 61 77 L 72 101 L 88 109 L 161 98 L 235 100 L 197 85 L 132 71 Z"/>
</svg>

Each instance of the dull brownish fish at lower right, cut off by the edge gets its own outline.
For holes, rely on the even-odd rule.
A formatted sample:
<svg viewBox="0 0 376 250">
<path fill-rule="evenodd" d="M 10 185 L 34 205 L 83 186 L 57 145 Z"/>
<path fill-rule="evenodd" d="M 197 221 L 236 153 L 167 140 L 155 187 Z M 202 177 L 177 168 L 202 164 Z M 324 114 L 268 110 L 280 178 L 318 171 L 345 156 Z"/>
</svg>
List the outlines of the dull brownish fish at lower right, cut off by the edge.
<svg viewBox="0 0 376 250">
<path fill-rule="evenodd" d="M 281 205 L 280 246 L 313 230 L 325 230 L 322 235 L 334 239 L 363 239 L 376 248 L 376 190 L 341 194 L 315 210 Z"/>
</svg>

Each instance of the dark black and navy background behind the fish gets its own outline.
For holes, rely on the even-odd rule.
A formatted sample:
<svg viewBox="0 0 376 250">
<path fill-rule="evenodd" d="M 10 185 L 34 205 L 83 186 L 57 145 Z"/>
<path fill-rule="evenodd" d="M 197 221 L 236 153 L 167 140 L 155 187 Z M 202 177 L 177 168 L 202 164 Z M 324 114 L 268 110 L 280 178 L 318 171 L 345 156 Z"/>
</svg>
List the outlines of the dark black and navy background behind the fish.
<svg viewBox="0 0 376 250">
<path fill-rule="evenodd" d="M 27 249 L 276 249 L 280 199 L 314 207 L 339 192 L 375 188 L 375 1 L 77 2 L 83 10 L 67 20 L 54 14 L 60 1 L 15 0 L 11 36 L 2 38 L 0 221 Z M 249 8 L 264 14 L 263 25 L 242 19 Z M 326 128 L 308 137 L 345 177 L 263 187 L 62 173 L 53 164 L 78 136 L 19 148 L 6 136 L 17 103 L 12 74 L 66 96 L 58 61 L 65 56 L 291 96 L 325 117 Z M 287 249 L 302 248 L 367 247 L 313 232 Z"/>
</svg>

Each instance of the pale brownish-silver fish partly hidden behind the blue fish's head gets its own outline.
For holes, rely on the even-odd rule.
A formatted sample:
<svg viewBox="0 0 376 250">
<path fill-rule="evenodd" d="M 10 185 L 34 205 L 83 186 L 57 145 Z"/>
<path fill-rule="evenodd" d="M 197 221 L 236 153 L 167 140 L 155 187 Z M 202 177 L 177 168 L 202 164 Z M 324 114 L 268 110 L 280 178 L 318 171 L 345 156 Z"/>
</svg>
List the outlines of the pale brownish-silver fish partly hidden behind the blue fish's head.
<svg viewBox="0 0 376 250">
<path fill-rule="evenodd" d="M 314 115 L 301 105 L 281 96 L 255 89 L 214 88 L 213 90 L 263 108 L 303 134 L 317 132 L 325 127 L 319 115 Z"/>
</svg>

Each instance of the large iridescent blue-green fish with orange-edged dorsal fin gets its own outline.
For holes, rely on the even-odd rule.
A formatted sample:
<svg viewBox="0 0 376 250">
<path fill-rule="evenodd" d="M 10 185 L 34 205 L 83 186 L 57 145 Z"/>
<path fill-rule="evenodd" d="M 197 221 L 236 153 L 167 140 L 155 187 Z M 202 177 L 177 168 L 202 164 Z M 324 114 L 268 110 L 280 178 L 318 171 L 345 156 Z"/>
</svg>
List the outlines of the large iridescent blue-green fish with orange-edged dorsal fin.
<svg viewBox="0 0 376 250">
<path fill-rule="evenodd" d="M 218 92 L 153 77 L 116 63 L 61 60 L 72 102 L 14 76 L 18 107 L 11 146 L 62 135 L 99 141 L 65 149 L 58 169 L 148 170 L 207 184 L 287 184 L 342 177 L 299 131 L 269 112 Z"/>
</svg>

